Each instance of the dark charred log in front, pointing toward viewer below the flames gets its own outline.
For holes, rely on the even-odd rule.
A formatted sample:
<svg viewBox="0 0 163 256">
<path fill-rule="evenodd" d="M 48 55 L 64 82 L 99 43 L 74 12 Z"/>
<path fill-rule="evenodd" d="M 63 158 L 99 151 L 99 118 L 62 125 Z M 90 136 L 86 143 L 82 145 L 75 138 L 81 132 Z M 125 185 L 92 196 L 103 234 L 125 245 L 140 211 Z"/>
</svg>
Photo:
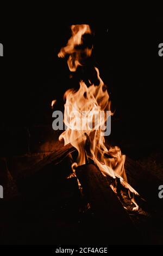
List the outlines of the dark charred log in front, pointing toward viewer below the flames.
<svg viewBox="0 0 163 256">
<path fill-rule="evenodd" d="M 96 215 L 103 242 L 109 245 L 140 244 L 137 230 L 109 182 L 94 164 L 78 166 L 76 175 Z"/>
</svg>

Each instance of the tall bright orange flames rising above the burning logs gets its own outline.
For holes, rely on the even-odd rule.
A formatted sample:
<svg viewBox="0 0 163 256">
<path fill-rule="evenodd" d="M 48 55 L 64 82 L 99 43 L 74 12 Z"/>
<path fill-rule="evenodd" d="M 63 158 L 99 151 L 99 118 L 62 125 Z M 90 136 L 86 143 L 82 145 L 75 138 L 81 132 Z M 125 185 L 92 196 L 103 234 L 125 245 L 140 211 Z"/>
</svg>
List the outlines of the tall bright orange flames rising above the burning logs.
<svg viewBox="0 0 163 256">
<path fill-rule="evenodd" d="M 83 56 L 89 58 L 92 54 L 93 46 L 79 47 L 83 45 L 83 35 L 92 32 L 89 25 L 72 25 L 71 30 L 72 36 L 67 45 L 60 50 L 58 56 L 65 57 L 69 55 L 68 67 L 71 72 L 75 72 L 79 66 L 84 65 Z M 78 91 L 73 89 L 66 91 L 64 96 L 66 100 L 64 123 L 67 129 L 60 135 L 59 140 L 64 139 L 65 145 L 71 143 L 78 151 L 78 158 L 72 164 L 74 173 L 76 166 L 93 160 L 104 176 L 120 178 L 124 187 L 137 194 L 135 189 L 127 182 L 124 169 L 126 156 L 121 153 L 117 146 L 110 146 L 109 148 L 105 146 L 104 129 L 108 117 L 112 115 L 111 102 L 96 67 L 95 71 L 98 85 L 91 84 L 90 81 L 90 86 L 87 87 L 84 81 L 80 81 Z M 103 113 L 102 118 L 101 113 Z M 132 200 L 135 203 L 134 199 Z M 136 203 L 135 205 L 134 210 L 137 210 L 138 206 Z"/>
</svg>

